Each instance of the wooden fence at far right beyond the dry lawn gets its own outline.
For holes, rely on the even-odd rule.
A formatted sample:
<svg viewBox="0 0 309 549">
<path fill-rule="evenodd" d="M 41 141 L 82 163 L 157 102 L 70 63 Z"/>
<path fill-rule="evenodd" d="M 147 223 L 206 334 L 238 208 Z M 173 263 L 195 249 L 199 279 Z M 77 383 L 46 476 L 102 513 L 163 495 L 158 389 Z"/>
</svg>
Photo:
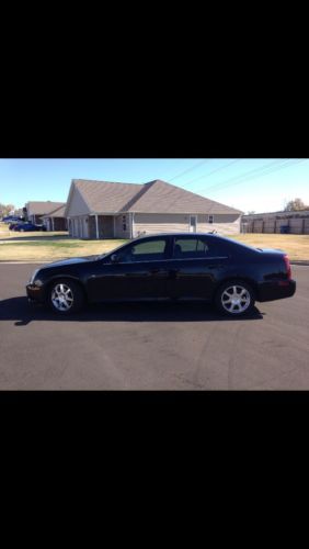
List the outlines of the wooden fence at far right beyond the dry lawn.
<svg viewBox="0 0 309 549">
<path fill-rule="evenodd" d="M 309 211 L 268 212 L 242 215 L 243 233 L 290 233 L 309 234 Z"/>
</svg>

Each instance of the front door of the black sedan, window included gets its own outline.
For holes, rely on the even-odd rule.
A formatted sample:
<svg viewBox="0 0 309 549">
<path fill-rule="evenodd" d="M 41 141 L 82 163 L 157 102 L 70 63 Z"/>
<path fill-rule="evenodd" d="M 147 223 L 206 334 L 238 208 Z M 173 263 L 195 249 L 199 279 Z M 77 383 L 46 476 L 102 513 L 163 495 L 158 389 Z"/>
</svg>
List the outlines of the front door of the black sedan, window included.
<svg viewBox="0 0 309 549">
<path fill-rule="evenodd" d="M 169 250 L 169 237 L 149 237 L 99 260 L 88 281 L 91 301 L 165 299 Z"/>
</svg>

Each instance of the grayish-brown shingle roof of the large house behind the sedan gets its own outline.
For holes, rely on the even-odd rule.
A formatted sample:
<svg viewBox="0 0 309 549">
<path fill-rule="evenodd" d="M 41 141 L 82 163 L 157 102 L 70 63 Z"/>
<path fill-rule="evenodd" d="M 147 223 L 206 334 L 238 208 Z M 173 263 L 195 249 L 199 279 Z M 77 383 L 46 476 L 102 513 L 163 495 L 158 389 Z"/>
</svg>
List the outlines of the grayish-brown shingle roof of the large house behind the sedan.
<svg viewBox="0 0 309 549">
<path fill-rule="evenodd" d="M 145 184 L 73 179 L 90 213 L 242 213 L 214 200 L 156 179 Z"/>
</svg>

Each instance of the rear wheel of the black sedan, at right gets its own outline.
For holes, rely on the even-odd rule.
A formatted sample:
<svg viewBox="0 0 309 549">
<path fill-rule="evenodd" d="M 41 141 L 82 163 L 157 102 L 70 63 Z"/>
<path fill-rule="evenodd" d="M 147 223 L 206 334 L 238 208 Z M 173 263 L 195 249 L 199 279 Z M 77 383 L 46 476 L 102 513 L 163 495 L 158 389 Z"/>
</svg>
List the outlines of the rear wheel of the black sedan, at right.
<svg viewBox="0 0 309 549">
<path fill-rule="evenodd" d="M 255 303 L 254 291 L 242 280 L 229 280 L 218 289 L 215 298 L 217 310 L 232 317 L 248 315 Z"/>
</svg>

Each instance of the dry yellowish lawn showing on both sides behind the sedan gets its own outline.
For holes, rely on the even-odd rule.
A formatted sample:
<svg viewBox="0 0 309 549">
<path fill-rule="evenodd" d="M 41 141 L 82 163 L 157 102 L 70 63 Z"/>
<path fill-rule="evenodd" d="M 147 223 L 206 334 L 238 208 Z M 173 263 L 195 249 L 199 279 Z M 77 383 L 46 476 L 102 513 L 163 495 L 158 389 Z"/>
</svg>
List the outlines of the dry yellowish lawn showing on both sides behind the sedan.
<svg viewBox="0 0 309 549">
<path fill-rule="evenodd" d="M 309 260 L 309 235 L 245 234 L 234 239 L 256 248 L 276 248 L 286 251 L 291 260 Z M 81 240 L 67 233 L 1 232 L 0 261 L 48 262 L 69 257 L 104 254 L 127 240 Z"/>
</svg>

